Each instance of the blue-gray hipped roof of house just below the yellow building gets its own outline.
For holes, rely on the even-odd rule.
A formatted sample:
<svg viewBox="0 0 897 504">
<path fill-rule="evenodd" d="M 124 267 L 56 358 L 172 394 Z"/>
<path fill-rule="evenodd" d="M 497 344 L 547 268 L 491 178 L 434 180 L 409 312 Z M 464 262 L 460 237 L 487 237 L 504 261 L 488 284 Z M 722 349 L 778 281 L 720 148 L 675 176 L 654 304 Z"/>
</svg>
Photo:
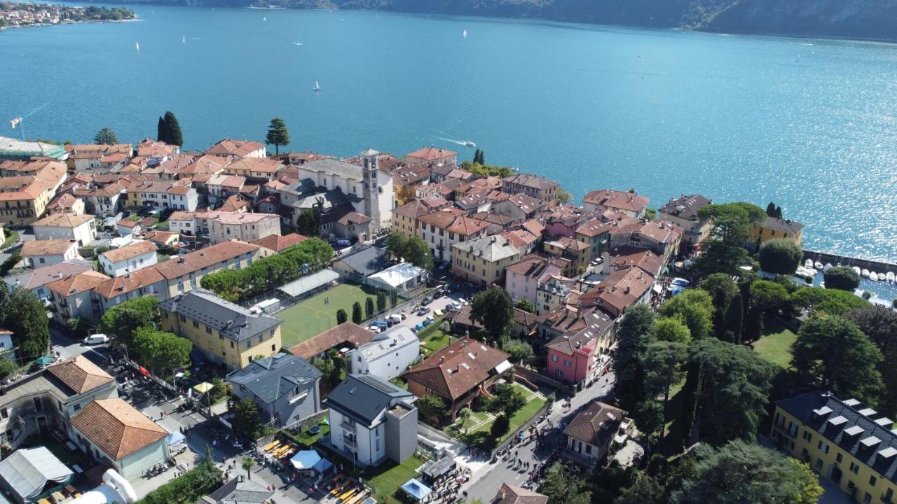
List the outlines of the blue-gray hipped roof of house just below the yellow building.
<svg viewBox="0 0 897 504">
<path fill-rule="evenodd" d="M 277 353 L 252 361 L 243 369 L 231 373 L 227 380 L 234 386 L 244 386 L 266 404 L 289 394 L 294 387 L 321 378 L 321 371 L 309 361 L 292 353 Z"/>
</svg>

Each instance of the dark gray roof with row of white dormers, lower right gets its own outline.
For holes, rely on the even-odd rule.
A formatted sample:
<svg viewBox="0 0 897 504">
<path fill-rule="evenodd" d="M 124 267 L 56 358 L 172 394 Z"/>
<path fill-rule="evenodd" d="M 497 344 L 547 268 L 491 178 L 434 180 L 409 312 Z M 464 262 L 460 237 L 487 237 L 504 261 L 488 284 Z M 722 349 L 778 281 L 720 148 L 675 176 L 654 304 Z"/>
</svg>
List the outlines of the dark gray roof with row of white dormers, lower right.
<svg viewBox="0 0 897 504">
<path fill-rule="evenodd" d="M 897 432 L 892 430 L 893 421 L 878 418 L 881 415 L 874 415 L 876 418 L 866 416 L 859 413 L 861 406 L 858 402 L 841 401 L 834 395 L 823 392 L 782 399 L 776 405 L 803 422 L 806 427 L 829 439 L 832 444 L 857 457 L 876 473 L 891 482 L 897 482 Z M 838 417 L 844 420 L 831 421 Z M 859 429 L 854 429 L 855 427 Z M 785 430 L 787 429 L 786 425 Z M 854 435 L 851 436 L 848 430 L 854 432 Z"/>
</svg>

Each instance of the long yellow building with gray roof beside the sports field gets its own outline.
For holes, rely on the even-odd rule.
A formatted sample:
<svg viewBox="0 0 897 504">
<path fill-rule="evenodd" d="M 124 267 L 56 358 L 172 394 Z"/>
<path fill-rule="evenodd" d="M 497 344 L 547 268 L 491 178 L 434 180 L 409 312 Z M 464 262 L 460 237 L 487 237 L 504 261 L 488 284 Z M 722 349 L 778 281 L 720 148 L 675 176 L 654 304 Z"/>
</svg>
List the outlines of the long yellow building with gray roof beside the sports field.
<svg viewBox="0 0 897 504">
<path fill-rule="evenodd" d="M 163 331 L 187 338 L 208 361 L 228 369 L 243 369 L 280 352 L 283 320 L 222 300 L 211 291 L 190 291 L 162 301 L 159 308 Z"/>
</svg>

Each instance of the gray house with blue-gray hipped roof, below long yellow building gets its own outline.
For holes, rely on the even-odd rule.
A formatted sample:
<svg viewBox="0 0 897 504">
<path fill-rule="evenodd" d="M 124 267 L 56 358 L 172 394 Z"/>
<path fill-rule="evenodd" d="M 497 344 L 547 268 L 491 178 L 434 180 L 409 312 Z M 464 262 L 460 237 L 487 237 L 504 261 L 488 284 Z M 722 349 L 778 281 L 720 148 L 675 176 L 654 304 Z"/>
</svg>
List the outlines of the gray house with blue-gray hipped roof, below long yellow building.
<svg viewBox="0 0 897 504">
<path fill-rule="evenodd" d="M 256 402 L 262 421 L 286 426 L 321 411 L 318 382 L 322 373 L 309 361 L 290 353 L 275 353 L 251 361 L 228 375 L 233 395 Z"/>
</svg>

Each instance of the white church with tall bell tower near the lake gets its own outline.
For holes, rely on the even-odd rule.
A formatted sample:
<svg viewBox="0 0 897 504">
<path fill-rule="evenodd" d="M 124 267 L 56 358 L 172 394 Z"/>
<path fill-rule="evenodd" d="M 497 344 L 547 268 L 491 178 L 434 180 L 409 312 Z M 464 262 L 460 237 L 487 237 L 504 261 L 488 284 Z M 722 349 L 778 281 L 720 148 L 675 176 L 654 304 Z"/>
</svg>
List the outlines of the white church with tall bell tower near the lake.
<svg viewBox="0 0 897 504">
<path fill-rule="evenodd" d="M 310 178 L 327 190 L 338 188 L 355 212 L 367 215 L 379 228 L 390 221 L 396 194 L 392 175 L 379 169 L 378 155 L 372 149 L 361 152 L 361 165 L 333 159 L 310 161 L 300 166 L 299 178 Z"/>
</svg>

